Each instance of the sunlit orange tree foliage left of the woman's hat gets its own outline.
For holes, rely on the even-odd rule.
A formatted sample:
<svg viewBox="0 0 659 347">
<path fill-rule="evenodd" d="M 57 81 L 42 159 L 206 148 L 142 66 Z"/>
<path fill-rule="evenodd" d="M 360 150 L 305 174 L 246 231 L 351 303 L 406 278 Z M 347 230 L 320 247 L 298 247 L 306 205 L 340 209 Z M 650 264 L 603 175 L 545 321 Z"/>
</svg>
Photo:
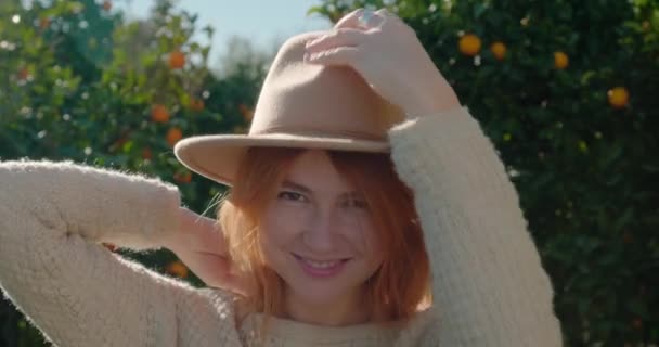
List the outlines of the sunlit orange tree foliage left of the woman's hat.
<svg viewBox="0 0 659 347">
<path fill-rule="evenodd" d="M 0 159 L 73 159 L 173 182 L 197 211 L 221 193 L 180 165 L 173 144 L 192 134 L 244 132 L 263 76 L 238 66 L 209 74 L 210 47 L 195 40 L 196 15 L 155 2 L 128 22 L 112 1 L 0 2 Z M 212 36 L 212 28 L 201 34 Z M 212 209 L 210 209 L 212 210 Z M 201 281 L 167 252 L 134 254 L 146 266 Z M 0 346 L 41 345 L 8 301 Z"/>
</svg>

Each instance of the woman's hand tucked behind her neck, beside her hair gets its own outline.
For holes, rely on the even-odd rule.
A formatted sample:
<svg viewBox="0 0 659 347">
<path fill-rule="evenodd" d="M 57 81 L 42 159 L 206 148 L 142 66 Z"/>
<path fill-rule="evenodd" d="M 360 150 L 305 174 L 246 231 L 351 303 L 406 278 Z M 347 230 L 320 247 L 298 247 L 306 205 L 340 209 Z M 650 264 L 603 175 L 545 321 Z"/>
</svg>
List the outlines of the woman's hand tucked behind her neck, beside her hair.
<svg viewBox="0 0 659 347">
<path fill-rule="evenodd" d="M 206 285 L 248 295 L 246 282 L 233 272 L 227 242 L 216 220 L 179 208 L 179 232 L 163 245 L 173 252 Z"/>
</svg>

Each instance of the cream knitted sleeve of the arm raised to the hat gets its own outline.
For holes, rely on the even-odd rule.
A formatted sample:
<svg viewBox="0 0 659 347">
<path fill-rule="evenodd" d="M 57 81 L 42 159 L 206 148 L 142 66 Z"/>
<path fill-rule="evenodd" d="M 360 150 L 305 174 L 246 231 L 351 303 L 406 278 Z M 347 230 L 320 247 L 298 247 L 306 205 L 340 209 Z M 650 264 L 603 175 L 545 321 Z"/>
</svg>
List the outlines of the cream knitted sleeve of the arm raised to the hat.
<svg viewBox="0 0 659 347">
<path fill-rule="evenodd" d="M 389 140 L 424 230 L 438 346 L 560 346 L 517 192 L 468 110 L 405 120 Z"/>
</svg>

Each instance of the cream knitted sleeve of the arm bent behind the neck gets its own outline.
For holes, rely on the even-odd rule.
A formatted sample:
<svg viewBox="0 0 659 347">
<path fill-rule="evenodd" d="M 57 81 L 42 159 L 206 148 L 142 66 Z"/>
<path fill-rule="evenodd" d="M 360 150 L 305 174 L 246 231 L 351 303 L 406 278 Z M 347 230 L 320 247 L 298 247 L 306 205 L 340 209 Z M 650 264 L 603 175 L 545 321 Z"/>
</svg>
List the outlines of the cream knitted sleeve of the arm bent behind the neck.
<svg viewBox="0 0 659 347">
<path fill-rule="evenodd" d="M 220 332 L 231 337 L 233 320 L 220 319 L 230 308 L 211 308 L 221 293 L 100 245 L 158 247 L 175 232 L 179 204 L 175 185 L 137 174 L 72 162 L 0 163 L 0 287 L 57 346 L 181 346 L 178 338 L 193 334 L 182 324 L 211 321 L 217 333 L 193 335 L 196 346 L 217 344 Z"/>
</svg>

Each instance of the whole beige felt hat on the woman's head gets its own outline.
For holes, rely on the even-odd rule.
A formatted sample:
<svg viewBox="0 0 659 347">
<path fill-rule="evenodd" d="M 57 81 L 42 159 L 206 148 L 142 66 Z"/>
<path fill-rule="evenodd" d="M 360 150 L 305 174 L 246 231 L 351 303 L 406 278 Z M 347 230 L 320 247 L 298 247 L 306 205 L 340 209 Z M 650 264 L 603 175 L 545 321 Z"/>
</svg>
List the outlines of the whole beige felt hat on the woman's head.
<svg viewBox="0 0 659 347">
<path fill-rule="evenodd" d="M 184 138 L 173 151 L 185 167 L 232 185 L 250 146 L 389 152 L 387 130 L 404 120 L 354 69 L 303 62 L 305 44 L 328 31 L 300 34 L 279 50 L 247 134 Z"/>
</svg>

